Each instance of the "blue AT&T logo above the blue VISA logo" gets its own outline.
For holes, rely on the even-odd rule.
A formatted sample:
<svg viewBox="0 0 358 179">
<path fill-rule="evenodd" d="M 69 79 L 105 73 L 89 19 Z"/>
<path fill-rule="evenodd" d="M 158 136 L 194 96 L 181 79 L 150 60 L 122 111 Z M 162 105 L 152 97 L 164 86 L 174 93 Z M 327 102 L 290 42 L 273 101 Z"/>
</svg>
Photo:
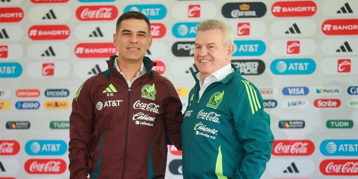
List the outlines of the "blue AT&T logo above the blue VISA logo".
<svg viewBox="0 0 358 179">
<path fill-rule="evenodd" d="M 316 63 L 310 58 L 275 59 L 270 68 L 277 75 L 311 74 L 316 70 Z"/>
</svg>

